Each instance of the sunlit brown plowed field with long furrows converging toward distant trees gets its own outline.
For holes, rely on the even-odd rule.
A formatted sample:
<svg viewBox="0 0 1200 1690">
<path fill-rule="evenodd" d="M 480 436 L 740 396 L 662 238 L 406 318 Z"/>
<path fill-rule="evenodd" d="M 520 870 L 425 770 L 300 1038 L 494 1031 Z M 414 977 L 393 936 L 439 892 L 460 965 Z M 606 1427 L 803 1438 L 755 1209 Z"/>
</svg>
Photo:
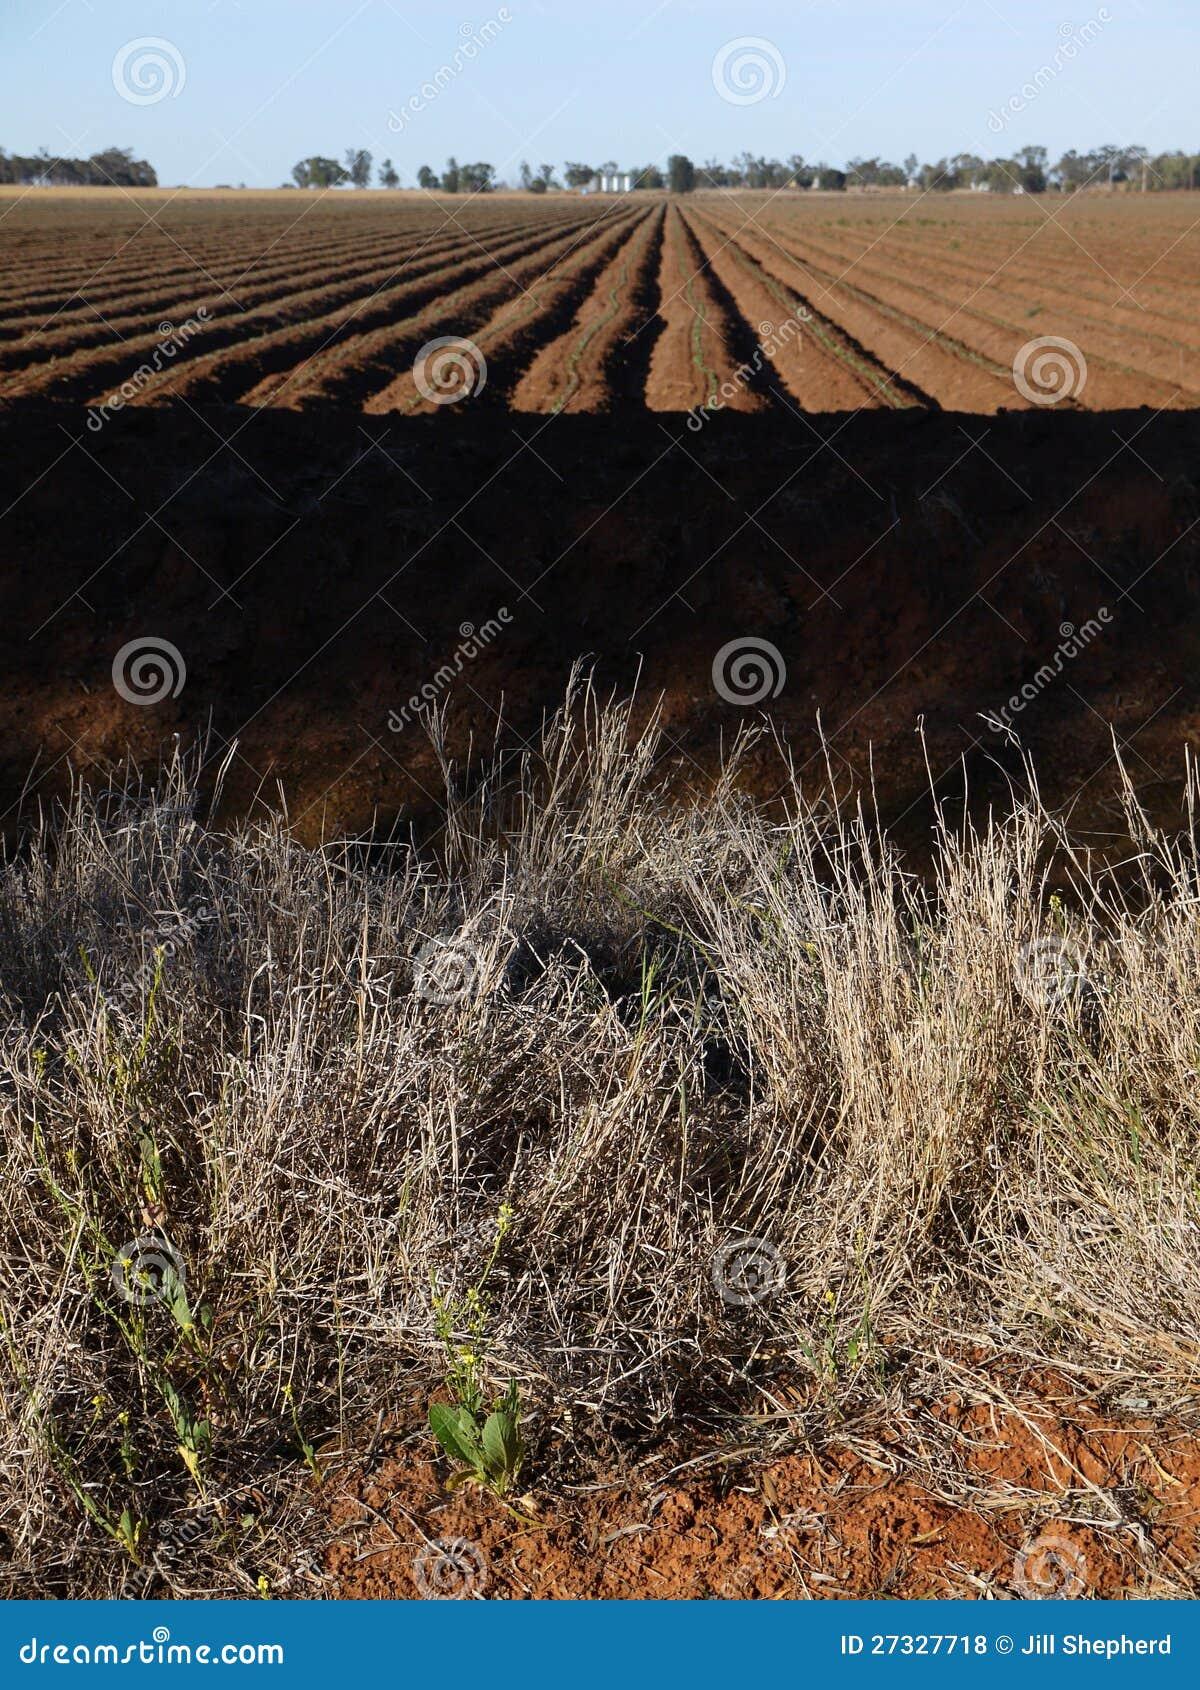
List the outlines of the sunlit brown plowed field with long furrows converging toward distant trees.
<svg viewBox="0 0 1200 1690">
<path fill-rule="evenodd" d="M 445 338 L 517 412 L 1200 399 L 1190 194 L 27 193 L 0 243 L 0 401 L 407 414 Z"/>
</svg>

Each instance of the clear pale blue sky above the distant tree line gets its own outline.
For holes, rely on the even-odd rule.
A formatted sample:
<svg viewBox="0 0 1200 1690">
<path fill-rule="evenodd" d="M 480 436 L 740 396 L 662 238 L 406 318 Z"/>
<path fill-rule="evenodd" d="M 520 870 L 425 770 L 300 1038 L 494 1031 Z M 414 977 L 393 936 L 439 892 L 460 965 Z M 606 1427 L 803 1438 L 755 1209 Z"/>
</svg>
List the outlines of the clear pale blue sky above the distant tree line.
<svg viewBox="0 0 1200 1690">
<path fill-rule="evenodd" d="M 1200 0 L 0 0 L 0 145 L 267 188 L 352 145 L 406 186 L 450 154 L 1055 159 L 1200 147 L 1198 61 Z"/>
</svg>

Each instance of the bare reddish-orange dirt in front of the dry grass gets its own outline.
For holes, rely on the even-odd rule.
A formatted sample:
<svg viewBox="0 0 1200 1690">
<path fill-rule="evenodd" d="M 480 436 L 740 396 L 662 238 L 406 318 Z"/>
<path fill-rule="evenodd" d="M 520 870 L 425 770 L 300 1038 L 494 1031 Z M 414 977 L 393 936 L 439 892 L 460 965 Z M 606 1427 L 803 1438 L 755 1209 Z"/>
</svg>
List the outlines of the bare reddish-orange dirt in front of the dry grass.
<svg viewBox="0 0 1200 1690">
<path fill-rule="evenodd" d="M 411 1597 L 423 1546 L 461 1538 L 488 1597 L 1002 1599 L 1021 1551 L 1053 1538 L 1080 1556 L 1078 1595 L 1195 1592 L 1195 1433 L 1104 1413 L 1063 1381 L 994 1382 L 1011 1406 L 946 1396 L 903 1435 L 832 1428 L 777 1458 L 681 1447 L 534 1489 L 536 1523 L 446 1494 L 417 1430 L 340 1472 L 326 1572 L 343 1597 Z"/>
</svg>

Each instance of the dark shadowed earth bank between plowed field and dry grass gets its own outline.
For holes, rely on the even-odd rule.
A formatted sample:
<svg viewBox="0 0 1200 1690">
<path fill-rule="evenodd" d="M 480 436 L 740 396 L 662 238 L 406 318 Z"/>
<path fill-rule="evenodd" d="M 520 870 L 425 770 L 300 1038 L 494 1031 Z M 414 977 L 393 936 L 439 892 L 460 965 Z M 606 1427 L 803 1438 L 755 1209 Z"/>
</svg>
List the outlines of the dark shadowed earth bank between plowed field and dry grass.
<svg viewBox="0 0 1200 1690">
<path fill-rule="evenodd" d="M 423 711 L 446 708 L 458 754 L 521 744 L 580 657 L 663 698 L 681 789 L 767 720 L 759 796 L 786 752 L 843 796 L 874 779 L 916 835 L 931 779 L 952 810 L 963 779 L 1006 803 L 1024 749 L 1099 837 L 1115 732 L 1171 816 L 1198 446 L 1200 416 L 1151 411 L 161 407 L 93 429 L 0 407 L 5 828 L 73 764 L 201 733 L 237 740 L 233 810 L 282 791 L 303 835 L 436 820 Z M 154 705 L 113 683 L 137 641 L 186 669 Z"/>
</svg>

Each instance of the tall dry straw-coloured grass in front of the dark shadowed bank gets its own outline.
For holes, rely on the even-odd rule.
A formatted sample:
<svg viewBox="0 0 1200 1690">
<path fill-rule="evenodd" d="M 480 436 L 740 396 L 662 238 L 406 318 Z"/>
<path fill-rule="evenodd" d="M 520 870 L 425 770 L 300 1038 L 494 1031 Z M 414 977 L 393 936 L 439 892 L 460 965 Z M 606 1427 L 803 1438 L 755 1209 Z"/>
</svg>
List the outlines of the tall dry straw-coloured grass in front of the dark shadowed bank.
<svg viewBox="0 0 1200 1690">
<path fill-rule="evenodd" d="M 3 869 L 14 1590 L 294 1578 L 306 1465 L 424 1409 L 429 1276 L 472 1284 L 502 1203 L 488 1369 L 534 1462 L 772 1381 L 810 1421 L 903 1403 L 968 1347 L 1195 1387 L 1192 838 L 1131 810 L 1107 875 L 1034 801 L 918 880 L 798 791 L 764 818 L 737 754 L 695 808 L 654 759 L 583 690 L 436 857 L 216 831 L 177 764 Z M 139 1237 L 174 1303 L 118 1295 Z M 744 1239 L 757 1289 L 713 1273 Z"/>
</svg>

